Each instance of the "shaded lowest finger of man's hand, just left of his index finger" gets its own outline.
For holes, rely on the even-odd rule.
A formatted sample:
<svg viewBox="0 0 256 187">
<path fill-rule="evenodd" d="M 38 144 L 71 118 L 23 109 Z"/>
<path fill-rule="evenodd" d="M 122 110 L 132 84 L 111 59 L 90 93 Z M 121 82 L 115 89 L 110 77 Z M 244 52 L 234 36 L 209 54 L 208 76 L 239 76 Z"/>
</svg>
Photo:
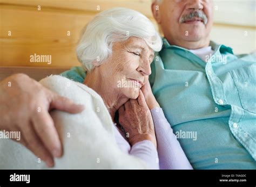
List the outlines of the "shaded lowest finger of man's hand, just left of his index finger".
<svg viewBox="0 0 256 187">
<path fill-rule="evenodd" d="M 22 137 L 22 144 L 24 146 L 30 149 L 37 157 L 45 161 L 48 167 L 53 167 L 53 158 L 50 152 L 44 147 L 43 143 L 38 139 L 32 124 L 23 126 Z"/>
</svg>

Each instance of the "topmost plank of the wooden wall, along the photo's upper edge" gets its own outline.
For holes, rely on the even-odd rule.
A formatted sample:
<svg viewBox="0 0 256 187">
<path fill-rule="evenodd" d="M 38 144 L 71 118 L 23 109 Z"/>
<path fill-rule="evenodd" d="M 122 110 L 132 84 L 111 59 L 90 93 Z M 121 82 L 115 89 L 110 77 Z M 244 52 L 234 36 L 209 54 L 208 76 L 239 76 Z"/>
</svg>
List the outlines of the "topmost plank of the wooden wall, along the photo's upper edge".
<svg viewBox="0 0 256 187">
<path fill-rule="evenodd" d="M 240 25 L 255 28 L 256 17 L 255 0 L 213 0 L 214 1 L 214 23 L 226 25 Z M 15 4 L 22 6 L 38 5 L 44 8 L 91 11 L 98 13 L 117 6 L 130 8 L 142 12 L 152 18 L 151 0 L 0 0 L 2 4 Z M 99 6 L 99 10 L 98 10 Z"/>
</svg>

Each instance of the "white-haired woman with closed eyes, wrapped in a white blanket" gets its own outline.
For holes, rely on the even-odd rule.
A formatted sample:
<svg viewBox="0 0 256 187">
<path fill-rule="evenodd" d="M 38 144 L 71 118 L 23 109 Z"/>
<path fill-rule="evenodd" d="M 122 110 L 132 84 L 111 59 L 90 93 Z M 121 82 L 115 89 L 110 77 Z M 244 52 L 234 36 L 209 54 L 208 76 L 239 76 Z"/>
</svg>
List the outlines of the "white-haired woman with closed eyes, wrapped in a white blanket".
<svg viewBox="0 0 256 187">
<path fill-rule="evenodd" d="M 57 75 L 41 81 L 85 105 L 80 114 L 51 113 L 64 146 L 55 168 L 192 168 L 148 81 L 161 45 L 151 21 L 137 11 L 114 8 L 90 21 L 77 47 L 84 84 Z M 19 156 L 17 162 L 0 157 L 0 168 L 44 168 L 18 143 L 2 141 L 0 149 Z"/>
</svg>

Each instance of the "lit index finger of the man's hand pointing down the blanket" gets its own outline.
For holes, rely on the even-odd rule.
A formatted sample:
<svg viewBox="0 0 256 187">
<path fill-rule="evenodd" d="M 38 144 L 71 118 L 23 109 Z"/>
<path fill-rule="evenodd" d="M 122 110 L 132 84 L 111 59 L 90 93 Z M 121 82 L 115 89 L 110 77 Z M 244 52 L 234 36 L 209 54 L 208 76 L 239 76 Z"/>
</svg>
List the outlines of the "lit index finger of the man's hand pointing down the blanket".
<svg viewBox="0 0 256 187">
<path fill-rule="evenodd" d="M 62 146 L 57 130 L 48 111 L 38 112 L 33 117 L 33 128 L 46 149 L 55 157 L 62 155 Z"/>
</svg>

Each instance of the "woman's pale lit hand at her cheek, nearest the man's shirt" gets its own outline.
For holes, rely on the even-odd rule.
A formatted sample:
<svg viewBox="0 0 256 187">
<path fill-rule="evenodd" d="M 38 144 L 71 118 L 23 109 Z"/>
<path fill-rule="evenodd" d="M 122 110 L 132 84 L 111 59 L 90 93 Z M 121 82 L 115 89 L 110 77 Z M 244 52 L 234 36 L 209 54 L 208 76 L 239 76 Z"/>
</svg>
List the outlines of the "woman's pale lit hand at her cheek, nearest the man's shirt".
<svg viewBox="0 0 256 187">
<path fill-rule="evenodd" d="M 150 110 L 153 109 L 153 108 L 156 108 L 156 107 L 160 107 L 156 98 L 154 97 L 154 95 L 152 93 L 148 76 L 146 77 L 144 83 L 145 84 L 142 87 L 142 92 L 143 92 L 143 95 L 145 97 L 147 106 L 149 107 Z"/>
</svg>

